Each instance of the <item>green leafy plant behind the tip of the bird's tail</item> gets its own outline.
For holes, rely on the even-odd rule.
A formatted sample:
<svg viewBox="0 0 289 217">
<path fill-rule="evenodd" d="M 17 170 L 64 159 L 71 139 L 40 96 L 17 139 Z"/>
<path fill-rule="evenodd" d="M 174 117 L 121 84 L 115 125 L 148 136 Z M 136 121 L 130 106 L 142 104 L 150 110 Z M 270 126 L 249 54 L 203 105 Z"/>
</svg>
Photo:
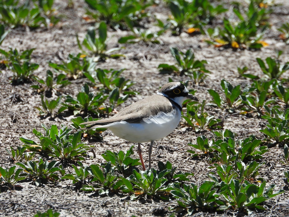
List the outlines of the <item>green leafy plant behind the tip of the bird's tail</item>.
<svg viewBox="0 0 289 217">
<path fill-rule="evenodd" d="M 99 140 L 103 140 L 103 137 L 100 135 L 100 133 L 104 130 L 106 130 L 105 128 L 95 128 L 95 129 L 81 129 L 84 128 L 85 125 L 82 124 L 84 122 L 88 122 L 88 121 L 96 121 L 99 120 L 99 118 L 92 118 L 92 117 L 76 117 L 71 119 L 71 126 L 73 128 L 75 128 L 76 130 L 81 130 L 83 133 L 83 137 L 87 138 L 87 136 L 91 136 L 93 138 L 99 139 Z"/>
</svg>

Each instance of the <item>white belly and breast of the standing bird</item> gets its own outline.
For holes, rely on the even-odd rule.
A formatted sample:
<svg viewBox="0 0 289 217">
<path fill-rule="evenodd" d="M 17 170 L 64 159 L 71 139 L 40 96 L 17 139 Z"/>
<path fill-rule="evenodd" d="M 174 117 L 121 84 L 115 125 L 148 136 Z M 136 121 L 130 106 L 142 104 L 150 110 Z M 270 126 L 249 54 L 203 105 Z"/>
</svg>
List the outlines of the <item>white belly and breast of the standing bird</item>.
<svg viewBox="0 0 289 217">
<path fill-rule="evenodd" d="M 121 121 L 102 127 L 110 129 L 114 135 L 122 139 L 142 143 L 159 140 L 169 135 L 178 126 L 180 120 L 181 112 L 174 109 L 168 114 L 160 112 L 138 124 Z"/>
</svg>

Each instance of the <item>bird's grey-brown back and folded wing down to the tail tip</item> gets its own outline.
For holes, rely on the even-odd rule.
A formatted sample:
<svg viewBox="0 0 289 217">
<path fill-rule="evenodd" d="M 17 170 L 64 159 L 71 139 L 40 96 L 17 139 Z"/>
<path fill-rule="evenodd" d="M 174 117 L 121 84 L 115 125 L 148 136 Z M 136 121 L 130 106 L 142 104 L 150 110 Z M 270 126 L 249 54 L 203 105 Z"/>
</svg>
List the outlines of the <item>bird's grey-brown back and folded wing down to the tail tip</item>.
<svg viewBox="0 0 289 217">
<path fill-rule="evenodd" d="M 97 121 L 85 122 L 82 124 L 89 124 L 88 127 L 111 124 L 118 121 L 126 121 L 129 123 L 139 123 L 143 118 L 151 115 L 157 115 L 159 112 L 171 112 L 173 110 L 171 102 L 162 95 L 152 95 L 143 100 L 135 102 L 127 106 L 116 115 Z M 93 125 L 93 126 L 92 126 Z"/>
</svg>

